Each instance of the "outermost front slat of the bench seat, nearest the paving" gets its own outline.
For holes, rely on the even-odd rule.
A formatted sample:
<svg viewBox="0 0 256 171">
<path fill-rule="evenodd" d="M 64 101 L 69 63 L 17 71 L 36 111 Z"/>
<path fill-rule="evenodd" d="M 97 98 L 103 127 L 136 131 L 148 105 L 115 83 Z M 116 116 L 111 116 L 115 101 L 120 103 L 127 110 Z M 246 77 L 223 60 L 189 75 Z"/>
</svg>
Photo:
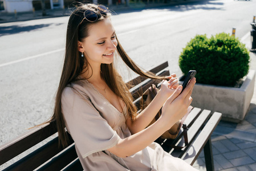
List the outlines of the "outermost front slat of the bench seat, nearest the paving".
<svg viewBox="0 0 256 171">
<path fill-rule="evenodd" d="M 199 156 L 200 152 L 204 148 L 206 142 L 210 139 L 214 129 L 217 127 L 218 123 L 221 120 L 221 113 L 214 112 L 212 117 L 210 117 L 208 123 L 205 125 L 204 129 L 193 144 L 186 149 L 186 153 L 181 157 L 182 160 L 185 160 L 190 165 L 193 165 L 196 161 L 196 158 Z M 193 157 L 192 157 L 193 156 Z"/>
</svg>

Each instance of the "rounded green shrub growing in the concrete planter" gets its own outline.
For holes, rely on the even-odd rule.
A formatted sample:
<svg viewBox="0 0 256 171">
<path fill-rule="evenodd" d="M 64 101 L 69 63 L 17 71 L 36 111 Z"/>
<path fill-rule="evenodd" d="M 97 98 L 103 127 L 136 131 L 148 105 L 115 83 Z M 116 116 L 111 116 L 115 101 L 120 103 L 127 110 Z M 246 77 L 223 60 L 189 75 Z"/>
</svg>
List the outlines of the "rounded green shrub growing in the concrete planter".
<svg viewBox="0 0 256 171">
<path fill-rule="evenodd" d="M 186 74 L 196 70 L 197 83 L 234 86 L 249 71 L 249 51 L 238 38 L 224 32 L 212 36 L 196 35 L 178 60 Z"/>
</svg>

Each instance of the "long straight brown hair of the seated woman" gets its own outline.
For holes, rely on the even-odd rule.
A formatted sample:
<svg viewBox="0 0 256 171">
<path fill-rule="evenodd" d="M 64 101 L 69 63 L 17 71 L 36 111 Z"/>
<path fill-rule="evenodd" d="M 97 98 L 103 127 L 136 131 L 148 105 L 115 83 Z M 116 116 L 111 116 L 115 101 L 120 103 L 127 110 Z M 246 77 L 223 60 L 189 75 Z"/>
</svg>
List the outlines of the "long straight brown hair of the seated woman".
<svg viewBox="0 0 256 171">
<path fill-rule="evenodd" d="M 85 10 L 93 10 L 97 14 L 97 21 L 88 22 L 84 19 L 84 11 Z M 63 64 L 62 75 L 60 77 L 59 88 L 56 92 L 56 100 L 54 113 L 50 120 L 46 123 L 50 123 L 51 121 L 56 121 L 56 126 L 59 132 L 59 144 L 62 146 L 67 146 L 68 144 L 68 136 L 65 130 L 64 116 L 62 113 L 62 93 L 64 88 L 77 80 L 78 76 L 82 74 L 83 71 L 88 70 L 88 65 L 90 65 L 86 58 L 81 58 L 81 54 L 78 51 L 78 41 L 81 41 L 86 38 L 88 35 L 88 28 L 90 25 L 94 25 L 95 23 L 102 21 L 103 19 L 109 17 L 111 14 L 101 15 L 97 12 L 97 5 L 94 4 L 80 4 L 77 9 L 71 14 L 70 19 L 68 21 L 67 27 L 67 38 L 66 38 L 66 54 Z M 116 38 L 117 39 L 117 38 Z M 141 76 L 145 76 L 146 78 L 151 79 L 165 79 L 164 77 L 155 76 L 153 74 L 148 74 L 143 72 L 129 56 L 124 51 L 121 46 L 119 40 L 117 39 L 117 52 L 120 58 L 124 61 L 125 64 L 132 71 L 136 72 Z M 132 103 L 132 95 L 129 93 L 129 89 L 124 83 L 121 76 L 113 67 L 113 63 L 111 64 L 101 64 L 101 73 L 103 79 L 107 83 L 108 87 L 120 97 L 121 100 L 124 101 L 125 105 L 127 105 L 128 117 L 133 120 L 136 116 L 137 108 Z"/>
</svg>

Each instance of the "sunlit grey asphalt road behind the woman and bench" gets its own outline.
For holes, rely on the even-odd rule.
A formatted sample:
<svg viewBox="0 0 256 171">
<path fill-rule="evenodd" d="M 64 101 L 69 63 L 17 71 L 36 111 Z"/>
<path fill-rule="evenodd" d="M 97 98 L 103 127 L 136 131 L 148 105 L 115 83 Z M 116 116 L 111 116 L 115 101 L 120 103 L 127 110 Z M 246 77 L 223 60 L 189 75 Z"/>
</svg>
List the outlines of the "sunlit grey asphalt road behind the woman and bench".
<svg viewBox="0 0 256 171">
<path fill-rule="evenodd" d="M 256 1 L 200 1 L 113 15 L 117 36 L 145 70 L 178 56 L 196 34 L 249 34 Z M 62 70 L 68 17 L 0 24 L 0 145 L 47 120 Z M 121 75 L 128 77 L 122 64 Z M 132 73 L 131 73 L 132 75 Z M 133 75 L 132 75 L 133 76 Z"/>
</svg>

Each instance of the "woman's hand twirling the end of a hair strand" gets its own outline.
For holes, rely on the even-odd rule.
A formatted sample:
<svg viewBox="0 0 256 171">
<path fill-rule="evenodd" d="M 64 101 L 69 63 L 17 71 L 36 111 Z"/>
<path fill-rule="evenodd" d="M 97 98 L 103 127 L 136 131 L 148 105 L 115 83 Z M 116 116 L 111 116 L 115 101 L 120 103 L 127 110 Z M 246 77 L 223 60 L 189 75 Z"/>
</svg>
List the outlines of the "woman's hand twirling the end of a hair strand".
<svg viewBox="0 0 256 171">
<path fill-rule="evenodd" d="M 166 99 L 168 99 L 168 97 L 170 97 L 173 92 L 176 90 L 176 88 L 178 87 L 178 79 L 176 77 L 176 74 L 172 74 L 168 77 L 166 77 L 169 79 L 169 81 L 167 82 L 166 80 L 161 84 L 161 89 L 159 91 L 160 96 L 162 98 L 165 98 L 164 101 Z"/>
</svg>

